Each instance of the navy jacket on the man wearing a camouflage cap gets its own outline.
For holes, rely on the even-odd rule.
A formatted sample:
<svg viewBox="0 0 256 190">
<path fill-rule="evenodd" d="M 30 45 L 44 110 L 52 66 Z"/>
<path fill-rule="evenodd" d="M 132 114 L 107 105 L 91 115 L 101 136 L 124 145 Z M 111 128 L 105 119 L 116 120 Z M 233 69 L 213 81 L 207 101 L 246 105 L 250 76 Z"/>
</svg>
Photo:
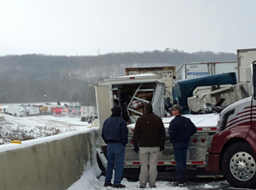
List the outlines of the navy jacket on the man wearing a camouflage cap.
<svg viewBox="0 0 256 190">
<path fill-rule="evenodd" d="M 181 115 L 175 116 L 169 125 L 171 143 L 188 143 L 190 137 L 196 133 L 197 128 L 192 121 Z"/>
</svg>

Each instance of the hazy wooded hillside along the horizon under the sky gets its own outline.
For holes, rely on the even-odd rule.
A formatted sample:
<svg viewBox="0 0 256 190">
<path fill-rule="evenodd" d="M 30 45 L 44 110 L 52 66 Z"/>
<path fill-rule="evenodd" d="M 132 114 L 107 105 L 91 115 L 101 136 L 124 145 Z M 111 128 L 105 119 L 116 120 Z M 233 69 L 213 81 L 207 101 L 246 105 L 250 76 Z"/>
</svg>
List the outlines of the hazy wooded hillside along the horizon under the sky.
<svg viewBox="0 0 256 190">
<path fill-rule="evenodd" d="M 236 54 L 178 50 L 111 53 L 99 56 L 27 54 L 0 57 L 0 104 L 81 102 L 95 105 L 93 85 L 124 75 L 128 67 L 175 66 L 184 63 L 236 61 Z"/>
</svg>

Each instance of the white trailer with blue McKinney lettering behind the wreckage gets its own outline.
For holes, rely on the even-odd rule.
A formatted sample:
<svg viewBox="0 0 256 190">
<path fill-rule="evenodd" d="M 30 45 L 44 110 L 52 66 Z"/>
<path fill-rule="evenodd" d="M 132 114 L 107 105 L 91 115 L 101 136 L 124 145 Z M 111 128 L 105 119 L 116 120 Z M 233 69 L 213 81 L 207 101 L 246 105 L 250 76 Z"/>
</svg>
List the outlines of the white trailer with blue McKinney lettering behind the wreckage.
<svg viewBox="0 0 256 190">
<path fill-rule="evenodd" d="M 176 71 L 176 80 L 195 79 L 202 76 L 216 75 L 223 73 L 236 73 L 239 81 L 238 62 L 203 62 L 187 63 Z"/>
</svg>

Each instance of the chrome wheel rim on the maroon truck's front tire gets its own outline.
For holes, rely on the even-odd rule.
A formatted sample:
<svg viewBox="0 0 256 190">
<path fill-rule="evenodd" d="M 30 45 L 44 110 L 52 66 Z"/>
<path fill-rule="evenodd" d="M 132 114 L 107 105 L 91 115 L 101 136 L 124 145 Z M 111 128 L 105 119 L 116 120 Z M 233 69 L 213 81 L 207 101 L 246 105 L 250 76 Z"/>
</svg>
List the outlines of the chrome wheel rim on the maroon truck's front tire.
<svg viewBox="0 0 256 190">
<path fill-rule="evenodd" d="M 230 159 L 230 171 L 232 175 L 240 180 L 251 179 L 256 170 L 255 160 L 248 152 L 237 152 Z"/>
</svg>

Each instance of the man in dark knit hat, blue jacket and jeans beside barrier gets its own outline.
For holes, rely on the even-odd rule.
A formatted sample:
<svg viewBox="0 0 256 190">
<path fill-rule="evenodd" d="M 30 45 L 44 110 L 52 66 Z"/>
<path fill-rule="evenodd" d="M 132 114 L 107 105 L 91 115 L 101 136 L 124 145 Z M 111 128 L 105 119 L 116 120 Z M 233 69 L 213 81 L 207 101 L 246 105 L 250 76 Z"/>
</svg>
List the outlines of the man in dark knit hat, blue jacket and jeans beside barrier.
<svg viewBox="0 0 256 190">
<path fill-rule="evenodd" d="M 102 139 L 107 144 L 107 171 L 104 186 L 112 186 L 114 188 L 125 188 L 121 184 L 121 178 L 124 166 L 125 146 L 128 143 L 128 128 L 126 121 L 121 117 L 121 108 L 114 106 L 112 115 L 103 124 Z M 111 179 L 114 172 L 114 184 Z"/>
</svg>

